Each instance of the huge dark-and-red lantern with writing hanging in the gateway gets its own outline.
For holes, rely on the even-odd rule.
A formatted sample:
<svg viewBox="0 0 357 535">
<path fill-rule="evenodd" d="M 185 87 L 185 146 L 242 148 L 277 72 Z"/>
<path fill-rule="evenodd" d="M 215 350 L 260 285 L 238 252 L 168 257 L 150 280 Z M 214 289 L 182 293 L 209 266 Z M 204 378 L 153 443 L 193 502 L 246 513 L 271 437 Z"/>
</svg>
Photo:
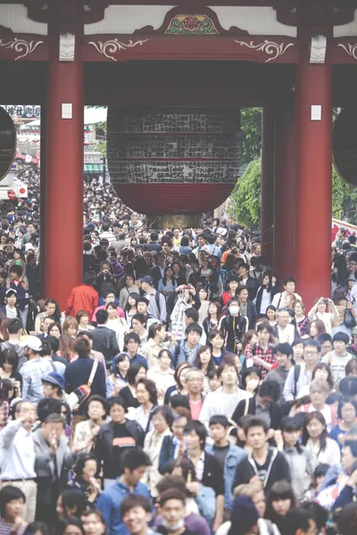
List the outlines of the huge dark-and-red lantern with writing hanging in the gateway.
<svg viewBox="0 0 357 535">
<path fill-rule="evenodd" d="M 239 109 L 110 107 L 107 151 L 129 208 L 153 226 L 199 226 L 237 182 Z"/>
</svg>

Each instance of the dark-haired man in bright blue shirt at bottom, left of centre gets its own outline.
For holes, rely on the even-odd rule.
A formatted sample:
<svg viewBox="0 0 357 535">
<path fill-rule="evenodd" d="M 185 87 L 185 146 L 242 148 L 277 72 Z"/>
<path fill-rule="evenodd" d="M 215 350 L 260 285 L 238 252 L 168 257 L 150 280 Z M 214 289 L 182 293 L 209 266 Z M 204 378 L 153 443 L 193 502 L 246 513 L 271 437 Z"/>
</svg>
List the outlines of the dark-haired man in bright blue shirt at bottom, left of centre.
<svg viewBox="0 0 357 535">
<path fill-rule="evenodd" d="M 120 477 L 100 494 L 96 506 L 104 515 L 109 535 L 129 535 L 120 513 L 124 498 L 137 494 L 150 500 L 148 488 L 140 482 L 148 466 L 151 466 L 151 461 L 143 449 L 128 449 L 121 458 Z"/>
</svg>

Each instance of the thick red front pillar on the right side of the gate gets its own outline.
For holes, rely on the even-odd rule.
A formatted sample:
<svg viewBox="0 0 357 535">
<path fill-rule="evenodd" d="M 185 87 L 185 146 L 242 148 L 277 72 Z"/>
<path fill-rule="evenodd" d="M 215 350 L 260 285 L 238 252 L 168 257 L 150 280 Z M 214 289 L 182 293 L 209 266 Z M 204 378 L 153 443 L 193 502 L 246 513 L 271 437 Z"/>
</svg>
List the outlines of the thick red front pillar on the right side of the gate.
<svg viewBox="0 0 357 535">
<path fill-rule="evenodd" d="M 307 307 L 314 298 L 328 297 L 331 292 L 332 73 L 328 45 L 332 24 L 327 19 L 328 6 L 320 5 L 325 27 L 311 28 L 313 17 L 307 6 L 299 12 L 298 28 L 295 265 L 296 291 Z M 322 53 L 321 42 L 315 45 L 314 36 L 321 35 L 327 38 L 325 57 L 323 44 Z"/>
</svg>

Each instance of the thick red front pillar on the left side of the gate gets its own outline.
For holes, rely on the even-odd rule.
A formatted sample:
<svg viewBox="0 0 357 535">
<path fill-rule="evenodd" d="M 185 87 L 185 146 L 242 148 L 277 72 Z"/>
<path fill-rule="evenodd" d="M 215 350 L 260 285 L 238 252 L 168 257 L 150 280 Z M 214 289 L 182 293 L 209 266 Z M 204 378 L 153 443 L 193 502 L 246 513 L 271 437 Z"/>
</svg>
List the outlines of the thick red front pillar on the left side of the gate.
<svg viewBox="0 0 357 535">
<path fill-rule="evenodd" d="M 48 9 L 46 298 L 58 300 L 63 309 L 71 287 L 82 281 L 83 5 L 65 1 Z M 70 34 L 63 35 L 62 21 Z"/>
</svg>

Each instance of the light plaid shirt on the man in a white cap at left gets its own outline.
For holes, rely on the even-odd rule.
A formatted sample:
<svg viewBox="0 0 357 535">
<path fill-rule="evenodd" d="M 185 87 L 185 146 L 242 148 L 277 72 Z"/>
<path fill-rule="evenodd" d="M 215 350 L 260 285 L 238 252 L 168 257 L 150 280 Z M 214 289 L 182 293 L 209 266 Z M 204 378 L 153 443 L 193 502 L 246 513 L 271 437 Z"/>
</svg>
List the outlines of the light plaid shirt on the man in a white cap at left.
<svg viewBox="0 0 357 535">
<path fill-rule="evenodd" d="M 37 405 L 44 397 L 42 378 L 54 372 L 54 363 L 45 358 L 33 358 L 21 367 L 22 399 Z"/>
</svg>

